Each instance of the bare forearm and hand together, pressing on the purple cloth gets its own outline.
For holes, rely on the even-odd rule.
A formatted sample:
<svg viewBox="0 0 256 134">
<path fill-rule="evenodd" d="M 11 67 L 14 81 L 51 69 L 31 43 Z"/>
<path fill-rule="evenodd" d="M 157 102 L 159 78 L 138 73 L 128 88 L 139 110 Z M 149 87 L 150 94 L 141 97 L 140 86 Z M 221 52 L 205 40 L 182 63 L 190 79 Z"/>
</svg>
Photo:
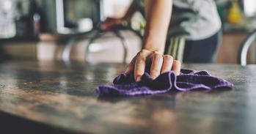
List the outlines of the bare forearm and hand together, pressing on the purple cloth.
<svg viewBox="0 0 256 134">
<path fill-rule="evenodd" d="M 134 72 L 134 79 L 140 81 L 146 66 L 149 66 L 150 77 L 153 79 L 170 70 L 179 75 L 180 62 L 173 60 L 172 56 L 163 56 L 172 14 L 172 0 L 147 0 L 145 10 L 147 25 L 142 51 L 128 64 L 125 73 Z"/>
</svg>

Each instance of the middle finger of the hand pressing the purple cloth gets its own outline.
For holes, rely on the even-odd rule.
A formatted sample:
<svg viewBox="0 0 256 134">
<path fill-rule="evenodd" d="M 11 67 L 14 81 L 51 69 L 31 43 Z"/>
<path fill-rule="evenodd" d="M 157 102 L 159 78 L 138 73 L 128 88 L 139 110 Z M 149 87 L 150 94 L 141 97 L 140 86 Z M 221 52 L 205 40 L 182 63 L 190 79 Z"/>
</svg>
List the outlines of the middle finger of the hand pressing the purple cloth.
<svg viewBox="0 0 256 134">
<path fill-rule="evenodd" d="M 153 58 L 152 58 L 152 64 L 150 67 L 150 77 L 155 79 L 160 75 L 161 72 L 161 67 L 163 64 L 163 56 L 159 53 L 153 53 Z"/>
</svg>

